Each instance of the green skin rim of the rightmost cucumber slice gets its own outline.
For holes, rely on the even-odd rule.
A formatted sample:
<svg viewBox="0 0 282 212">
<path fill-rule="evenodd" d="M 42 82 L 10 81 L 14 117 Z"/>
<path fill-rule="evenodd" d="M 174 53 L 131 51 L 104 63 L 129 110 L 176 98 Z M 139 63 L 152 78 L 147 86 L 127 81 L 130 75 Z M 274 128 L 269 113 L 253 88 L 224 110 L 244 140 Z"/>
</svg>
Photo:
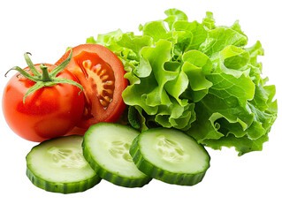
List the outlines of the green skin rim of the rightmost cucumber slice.
<svg viewBox="0 0 282 212">
<path fill-rule="evenodd" d="M 157 129 L 158 128 L 150 129 L 150 131 Z M 138 144 L 140 138 L 141 138 L 141 134 L 133 140 L 133 144 L 129 150 L 129 153 L 133 157 L 133 162 L 135 163 L 137 168 L 141 170 L 143 173 L 145 173 L 146 175 L 148 175 L 150 178 L 156 178 L 168 184 L 174 184 L 180 186 L 194 186 L 202 181 L 202 178 L 204 178 L 206 171 L 210 168 L 210 155 L 208 154 L 209 166 L 206 167 L 205 171 L 199 173 L 193 173 L 193 174 L 185 174 L 185 173 L 173 173 L 171 171 L 163 170 L 157 167 L 156 165 L 149 163 L 149 161 L 147 161 L 146 158 L 143 157 Z M 202 149 L 206 151 L 205 148 L 202 147 Z"/>
</svg>

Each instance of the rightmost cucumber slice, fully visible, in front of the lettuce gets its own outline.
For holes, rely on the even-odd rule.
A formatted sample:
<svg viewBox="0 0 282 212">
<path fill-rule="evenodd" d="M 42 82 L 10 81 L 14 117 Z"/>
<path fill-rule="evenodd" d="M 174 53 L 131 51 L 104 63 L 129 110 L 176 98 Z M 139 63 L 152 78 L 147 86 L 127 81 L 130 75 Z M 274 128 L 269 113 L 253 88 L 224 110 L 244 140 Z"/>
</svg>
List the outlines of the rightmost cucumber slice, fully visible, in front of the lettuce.
<svg viewBox="0 0 282 212">
<path fill-rule="evenodd" d="M 151 178 L 193 186 L 210 167 L 210 155 L 187 134 L 155 128 L 141 133 L 130 148 L 133 162 Z"/>
</svg>

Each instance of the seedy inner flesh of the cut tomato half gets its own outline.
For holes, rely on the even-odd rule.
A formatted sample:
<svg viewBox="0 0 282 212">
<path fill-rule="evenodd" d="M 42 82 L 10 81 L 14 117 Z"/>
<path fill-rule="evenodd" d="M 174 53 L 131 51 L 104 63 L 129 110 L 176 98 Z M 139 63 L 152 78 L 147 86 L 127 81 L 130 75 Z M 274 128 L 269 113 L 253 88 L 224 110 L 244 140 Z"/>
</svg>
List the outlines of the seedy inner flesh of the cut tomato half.
<svg viewBox="0 0 282 212">
<path fill-rule="evenodd" d="M 105 115 L 115 90 L 115 77 L 111 66 L 104 63 L 97 54 L 86 51 L 80 52 L 74 60 L 80 71 L 76 70 L 73 73 L 80 80 L 86 97 L 82 118 L 87 120 L 98 117 L 99 112 L 103 110 Z M 91 98 L 92 96 L 96 98 Z"/>
</svg>

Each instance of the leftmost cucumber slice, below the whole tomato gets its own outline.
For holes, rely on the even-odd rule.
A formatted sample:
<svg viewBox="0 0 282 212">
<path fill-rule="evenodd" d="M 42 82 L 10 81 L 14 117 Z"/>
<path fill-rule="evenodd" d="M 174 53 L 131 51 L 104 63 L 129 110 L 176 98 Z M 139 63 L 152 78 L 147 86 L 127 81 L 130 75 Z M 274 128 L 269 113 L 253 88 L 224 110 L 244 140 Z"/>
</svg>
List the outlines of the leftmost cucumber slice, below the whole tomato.
<svg viewBox="0 0 282 212">
<path fill-rule="evenodd" d="M 82 136 L 46 140 L 27 154 L 27 177 L 46 191 L 83 192 L 101 181 L 82 155 Z"/>
</svg>

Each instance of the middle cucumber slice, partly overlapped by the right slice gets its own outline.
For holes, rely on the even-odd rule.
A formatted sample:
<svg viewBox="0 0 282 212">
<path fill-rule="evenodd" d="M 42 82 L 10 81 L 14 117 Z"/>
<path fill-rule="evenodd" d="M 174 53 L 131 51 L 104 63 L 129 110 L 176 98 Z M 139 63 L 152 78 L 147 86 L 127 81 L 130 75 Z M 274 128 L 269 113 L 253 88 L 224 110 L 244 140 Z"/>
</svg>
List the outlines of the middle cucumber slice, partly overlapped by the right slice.
<svg viewBox="0 0 282 212">
<path fill-rule="evenodd" d="M 144 186 L 151 178 L 137 169 L 129 155 L 129 148 L 138 134 L 126 125 L 92 125 L 84 135 L 83 155 L 101 178 L 118 186 Z"/>
</svg>

